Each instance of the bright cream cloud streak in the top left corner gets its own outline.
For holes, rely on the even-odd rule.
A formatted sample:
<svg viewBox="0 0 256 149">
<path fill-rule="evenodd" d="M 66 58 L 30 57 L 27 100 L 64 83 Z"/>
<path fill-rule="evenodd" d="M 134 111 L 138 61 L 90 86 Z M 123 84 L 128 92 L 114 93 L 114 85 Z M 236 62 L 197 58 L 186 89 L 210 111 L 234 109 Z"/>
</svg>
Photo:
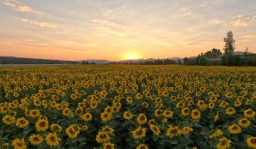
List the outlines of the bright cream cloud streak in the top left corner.
<svg viewBox="0 0 256 149">
<path fill-rule="evenodd" d="M 32 10 L 31 7 L 23 5 L 17 0 L 3 0 L 3 1 L 1 1 L 1 3 L 3 3 L 6 6 L 10 6 L 10 7 L 14 8 L 14 10 L 16 10 L 18 12 L 33 12 L 36 14 L 40 14 L 40 12 L 38 12 L 36 10 Z"/>
</svg>

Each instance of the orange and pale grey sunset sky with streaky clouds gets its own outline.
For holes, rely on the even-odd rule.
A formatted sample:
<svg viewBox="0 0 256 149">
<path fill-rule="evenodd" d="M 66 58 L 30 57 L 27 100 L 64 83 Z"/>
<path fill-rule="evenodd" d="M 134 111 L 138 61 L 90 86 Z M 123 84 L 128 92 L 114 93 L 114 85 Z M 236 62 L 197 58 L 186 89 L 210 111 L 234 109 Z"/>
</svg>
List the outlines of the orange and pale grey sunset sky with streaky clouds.
<svg viewBox="0 0 256 149">
<path fill-rule="evenodd" d="M 0 56 L 127 60 L 256 53 L 255 0 L 0 0 Z"/>
</svg>

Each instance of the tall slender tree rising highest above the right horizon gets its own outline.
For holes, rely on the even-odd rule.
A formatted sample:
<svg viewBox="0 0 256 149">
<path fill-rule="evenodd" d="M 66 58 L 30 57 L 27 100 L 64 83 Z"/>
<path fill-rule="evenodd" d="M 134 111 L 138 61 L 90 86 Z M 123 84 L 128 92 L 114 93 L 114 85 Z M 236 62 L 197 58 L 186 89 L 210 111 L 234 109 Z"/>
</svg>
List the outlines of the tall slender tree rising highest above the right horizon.
<svg viewBox="0 0 256 149">
<path fill-rule="evenodd" d="M 227 37 L 224 38 L 224 42 L 225 54 L 233 54 L 233 52 L 235 51 L 235 40 L 231 30 L 227 32 Z"/>
</svg>

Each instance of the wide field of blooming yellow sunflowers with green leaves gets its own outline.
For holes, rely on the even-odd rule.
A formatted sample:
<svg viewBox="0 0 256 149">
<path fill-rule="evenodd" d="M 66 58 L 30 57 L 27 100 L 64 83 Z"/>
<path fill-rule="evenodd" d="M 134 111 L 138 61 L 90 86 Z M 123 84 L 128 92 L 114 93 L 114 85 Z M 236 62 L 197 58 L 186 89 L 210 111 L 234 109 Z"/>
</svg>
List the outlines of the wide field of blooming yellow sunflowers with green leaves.
<svg viewBox="0 0 256 149">
<path fill-rule="evenodd" d="M 0 67 L 0 148 L 256 148 L 255 102 L 255 67 Z"/>
</svg>

